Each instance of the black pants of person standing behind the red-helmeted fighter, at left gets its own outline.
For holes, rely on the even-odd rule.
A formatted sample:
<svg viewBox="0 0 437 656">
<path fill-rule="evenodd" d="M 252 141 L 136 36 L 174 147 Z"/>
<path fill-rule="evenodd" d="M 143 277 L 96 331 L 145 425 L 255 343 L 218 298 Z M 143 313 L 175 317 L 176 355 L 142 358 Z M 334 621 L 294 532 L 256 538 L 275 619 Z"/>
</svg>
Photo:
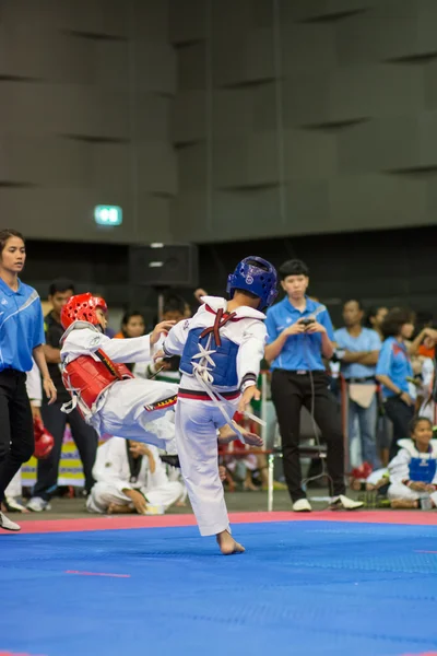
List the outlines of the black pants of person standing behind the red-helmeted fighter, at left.
<svg viewBox="0 0 437 656">
<path fill-rule="evenodd" d="M 37 479 L 33 490 L 34 496 L 40 496 L 45 501 L 49 501 L 58 487 L 59 461 L 67 422 L 70 424 L 71 434 L 81 456 L 85 489 L 90 491 L 94 484 L 93 467 L 98 445 L 97 433 L 85 423 L 79 410 L 73 410 L 70 414 L 66 414 L 61 411 L 61 406 L 62 403 L 56 402 L 52 406 L 45 405 L 42 408 L 44 425 L 55 440 L 55 445 L 49 457 L 38 460 Z"/>
</svg>

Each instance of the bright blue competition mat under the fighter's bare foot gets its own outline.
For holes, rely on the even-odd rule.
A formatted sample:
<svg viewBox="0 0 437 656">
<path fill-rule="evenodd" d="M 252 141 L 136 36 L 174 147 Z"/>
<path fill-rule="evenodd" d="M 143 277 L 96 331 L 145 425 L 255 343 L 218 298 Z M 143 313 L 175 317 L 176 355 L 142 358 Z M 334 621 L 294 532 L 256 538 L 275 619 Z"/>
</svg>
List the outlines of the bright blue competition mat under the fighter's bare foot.
<svg viewBox="0 0 437 656">
<path fill-rule="evenodd" d="M 0 653 L 400 656 L 437 647 L 437 527 L 194 527 L 0 536 Z M 105 577 L 67 571 L 125 574 Z"/>
</svg>

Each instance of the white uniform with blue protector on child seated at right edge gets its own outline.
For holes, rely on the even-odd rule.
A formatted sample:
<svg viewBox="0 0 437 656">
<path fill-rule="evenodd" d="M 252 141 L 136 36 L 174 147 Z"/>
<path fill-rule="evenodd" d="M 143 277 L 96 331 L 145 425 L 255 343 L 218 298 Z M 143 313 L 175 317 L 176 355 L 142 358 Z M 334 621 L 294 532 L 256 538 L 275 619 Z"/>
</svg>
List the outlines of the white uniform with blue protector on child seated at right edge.
<svg viewBox="0 0 437 656">
<path fill-rule="evenodd" d="M 400 440 L 398 455 L 389 462 L 389 499 L 417 501 L 430 497 L 437 505 L 437 492 L 417 492 L 408 487 L 409 481 L 422 481 L 437 485 L 437 440 L 429 443 L 429 453 L 417 450 L 413 440 Z"/>
</svg>

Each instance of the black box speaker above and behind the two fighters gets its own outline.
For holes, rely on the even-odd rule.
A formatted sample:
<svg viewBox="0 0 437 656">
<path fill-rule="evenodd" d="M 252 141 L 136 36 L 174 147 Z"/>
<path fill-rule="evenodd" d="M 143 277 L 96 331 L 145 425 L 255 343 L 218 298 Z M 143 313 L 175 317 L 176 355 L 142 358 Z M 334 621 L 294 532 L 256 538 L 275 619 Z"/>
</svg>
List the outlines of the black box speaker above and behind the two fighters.
<svg viewBox="0 0 437 656">
<path fill-rule="evenodd" d="M 199 257 L 194 244 L 129 247 L 130 283 L 156 288 L 198 288 Z"/>
</svg>

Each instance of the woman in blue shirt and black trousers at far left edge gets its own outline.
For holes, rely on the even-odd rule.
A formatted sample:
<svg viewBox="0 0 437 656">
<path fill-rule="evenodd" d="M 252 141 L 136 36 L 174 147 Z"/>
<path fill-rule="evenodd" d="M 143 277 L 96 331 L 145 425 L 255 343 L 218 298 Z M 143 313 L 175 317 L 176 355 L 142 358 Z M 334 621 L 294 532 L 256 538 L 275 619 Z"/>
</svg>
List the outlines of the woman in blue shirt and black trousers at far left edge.
<svg viewBox="0 0 437 656">
<path fill-rule="evenodd" d="M 14 230 L 0 231 L 0 503 L 4 490 L 34 452 L 32 410 L 25 386 L 33 360 L 42 373 L 49 402 L 56 400 L 43 350 L 40 300 L 19 278 L 25 260 L 23 236 Z M 20 530 L 1 512 L 0 528 Z"/>
</svg>

